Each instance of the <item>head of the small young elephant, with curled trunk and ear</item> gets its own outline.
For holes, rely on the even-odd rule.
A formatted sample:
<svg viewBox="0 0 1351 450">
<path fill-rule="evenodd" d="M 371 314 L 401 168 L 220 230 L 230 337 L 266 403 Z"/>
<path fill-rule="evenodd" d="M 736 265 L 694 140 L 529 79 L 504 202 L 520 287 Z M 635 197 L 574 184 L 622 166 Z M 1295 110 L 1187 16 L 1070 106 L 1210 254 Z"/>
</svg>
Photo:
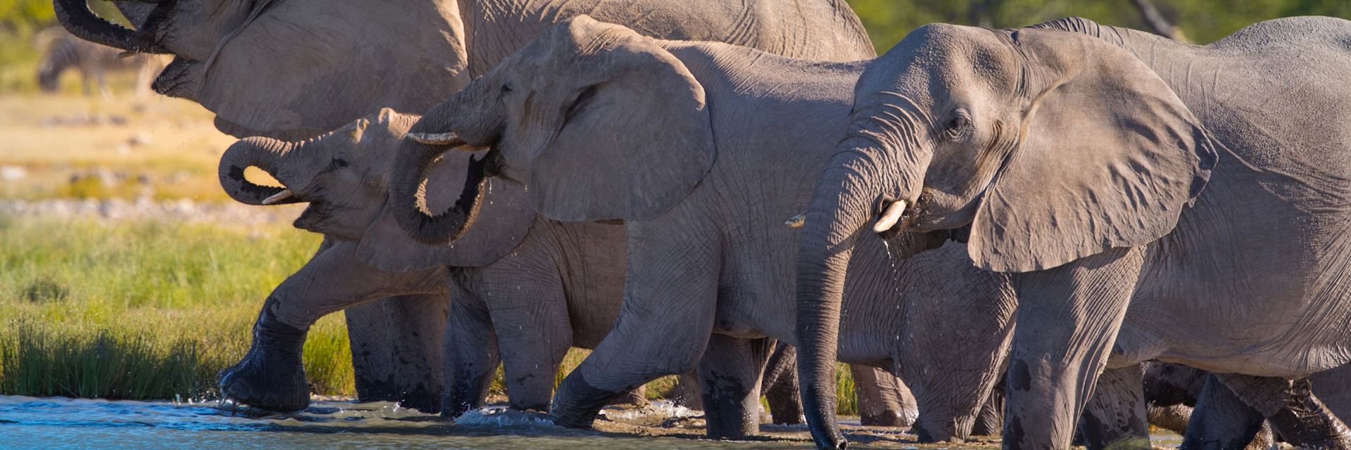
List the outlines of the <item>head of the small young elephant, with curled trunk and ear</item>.
<svg viewBox="0 0 1351 450">
<path fill-rule="evenodd" d="M 359 241 L 362 261 L 382 270 L 422 270 L 434 266 L 482 266 L 511 251 L 534 222 L 520 186 L 485 178 L 486 161 L 455 153 L 431 164 L 434 182 L 424 186 L 431 205 L 451 207 L 461 216 L 482 216 L 493 223 L 453 246 L 412 242 L 385 214 L 392 153 L 417 116 L 384 108 L 342 128 L 303 142 L 245 138 L 220 158 L 220 184 L 246 204 L 309 203 L 296 227 L 338 241 Z M 245 169 L 255 166 L 285 188 L 254 184 Z M 477 201 L 489 191 L 492 204 Z M 463 192 L 465 199 L 457 200 Z"/>
</svg>

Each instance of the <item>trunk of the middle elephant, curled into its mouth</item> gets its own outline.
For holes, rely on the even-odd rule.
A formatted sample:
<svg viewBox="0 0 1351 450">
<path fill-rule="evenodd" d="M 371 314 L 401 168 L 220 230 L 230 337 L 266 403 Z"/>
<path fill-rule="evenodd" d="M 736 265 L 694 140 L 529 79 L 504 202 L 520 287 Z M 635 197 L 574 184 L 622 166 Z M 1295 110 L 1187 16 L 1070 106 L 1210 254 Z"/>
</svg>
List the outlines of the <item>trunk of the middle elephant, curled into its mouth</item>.
<svg viewBox="0 0 1351 450">
<path fill-rule="evenodd" d="M 389 182 L 389 208 L 399 220 L 399 227 L 417 242 L 426 245 L 454 242 L 469 231 L 478 216 L 484 193 L 488 191 L 486 161 L 492 154 L 470 161 L 465 188 L 450 209 L 438 215 L 431 215 L 427 209 L 427 170 L 443 153 L 462 145 L 465 141 L 451 132 L 439 134 L 438 143 L 423 143 L 409 138 L 399 147 Z"/>
</svg>

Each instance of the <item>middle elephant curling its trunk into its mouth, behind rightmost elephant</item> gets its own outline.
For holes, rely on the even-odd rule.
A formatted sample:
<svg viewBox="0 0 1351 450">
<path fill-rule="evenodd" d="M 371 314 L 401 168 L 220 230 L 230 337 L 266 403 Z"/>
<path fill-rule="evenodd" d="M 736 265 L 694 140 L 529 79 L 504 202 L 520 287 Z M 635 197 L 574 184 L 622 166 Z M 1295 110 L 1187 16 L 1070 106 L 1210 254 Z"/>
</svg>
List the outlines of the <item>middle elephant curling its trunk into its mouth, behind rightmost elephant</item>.
<svg viewBox="0 0 1351 450">
<path fill-rule="evenodd" d="M 585 428 L 632 386 L 711 355 L 751 358 L 739 342 L 792 343 L 792 216 L 811 193 L 800 180 L 828 162 L 821 150 L 846 126 L 863 64 L 659 41 L 571 18 L 411 128 L 385 214 L 428 245 L 476 232 L 484 182 L 466 182 L 465 201 L 449 209 L 424 208 L 419 186 L 439 178 L 428 170 L 450 149 L 486 146 L 466 178 L 521 182 L 523 201 L 553 220 L 623 223 L 619 320 L 554 395 L 554 422 Z M 1015 309 L 1005 276 L 975 269 L 962 245 L 944 242 L 912 242 L 938 247 L 915 264 L 890 257 L 907 251 L 900 245 L 870 241 L 875 264 L 850 278 L 855 293 L 839 324 L 839 359 L 900 376 L 927 441 L 970 434 Z M 712 372 L 719 382 L 705 408 L 758 397 L 753 373 Z"/>
</svg>

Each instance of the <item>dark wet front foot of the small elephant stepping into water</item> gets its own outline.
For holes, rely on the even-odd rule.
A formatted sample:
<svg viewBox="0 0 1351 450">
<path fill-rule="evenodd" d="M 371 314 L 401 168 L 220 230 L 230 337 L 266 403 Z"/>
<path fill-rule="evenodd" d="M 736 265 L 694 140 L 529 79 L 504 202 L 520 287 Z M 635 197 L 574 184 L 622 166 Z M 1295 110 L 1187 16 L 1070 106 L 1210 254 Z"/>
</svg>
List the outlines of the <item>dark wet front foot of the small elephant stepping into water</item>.
<svg viewBox="0 0 1351 450">
<path fill-rule="evenodd" d="M 254 324 L 249 353 L 220 372 L 220 395 L 269 411 L 304 409 L 309 405 L 301 362 L 304 343 L 305 330 L 277 322 L 265 307 Z"/>
</svg>

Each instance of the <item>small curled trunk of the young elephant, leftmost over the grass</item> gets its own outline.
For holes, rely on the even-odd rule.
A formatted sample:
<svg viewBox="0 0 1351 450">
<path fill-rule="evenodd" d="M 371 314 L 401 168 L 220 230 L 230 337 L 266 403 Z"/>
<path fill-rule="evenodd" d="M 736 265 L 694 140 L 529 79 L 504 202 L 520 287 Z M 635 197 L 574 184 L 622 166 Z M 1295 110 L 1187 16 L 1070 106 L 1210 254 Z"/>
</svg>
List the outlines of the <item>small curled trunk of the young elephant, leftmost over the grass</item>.
<svg viewBox="0 0 1351 450">
<path fill-rule="evenodd" d="M 243 204 L 286 204 L 300 199 L 290 196 L 292 184 L 282 176 L 282 161 L 300 153 L 304 143 L 281 142 L 272 138 L 245 138 L 220 155 L 218 176 L 220 186 L 231 199 Z M 288 188 L 263 186 L 249 181 L 245 169 L 254 166 L 282 181 Z"/>
</svg>

